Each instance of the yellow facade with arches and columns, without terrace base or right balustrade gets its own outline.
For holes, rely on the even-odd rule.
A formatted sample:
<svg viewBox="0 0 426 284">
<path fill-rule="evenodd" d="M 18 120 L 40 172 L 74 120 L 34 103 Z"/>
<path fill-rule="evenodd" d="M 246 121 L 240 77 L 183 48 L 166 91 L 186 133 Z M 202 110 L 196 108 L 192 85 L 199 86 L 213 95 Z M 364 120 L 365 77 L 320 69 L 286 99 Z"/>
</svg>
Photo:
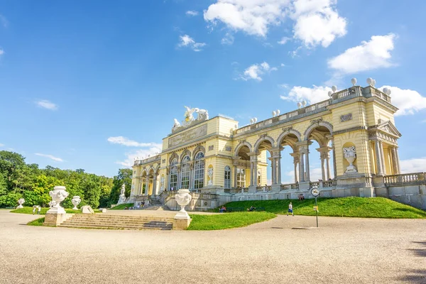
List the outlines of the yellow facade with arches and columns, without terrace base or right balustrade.
<svg viewBox="0 0 426 284">
<path fill-rule="evenodd" d="M 189 112 L 189 119 L 182 121 L 186 126 L 176 121 L 173 133 L 163 138 L 160 154 L 135 162 L 131 195 L 158 195 L 171 187 L 199 192 L 239 187 L 248 187 L 249 192 L 271 190 L 265 186 L 266 153 L 271 157 L 271 187 L 280 190 L 284 188 L 283 147 L 293 151 L 295 188 L 312 182 L 309 156 L 313 151 L 321 156 L 320 181 L 337 180 L 324 186 L 355 179 L 364 180 L 368 187 L 368 179 L 399 173 L 396 110 L 387 94 L 371 86 L 355 86 L 332 94 L 327 101 L 240 128 L 234 119 L 208 119 L 200 113 L 194 119 Z M 320 148 L 310 146 L 314 140 Z"/>
</svg>

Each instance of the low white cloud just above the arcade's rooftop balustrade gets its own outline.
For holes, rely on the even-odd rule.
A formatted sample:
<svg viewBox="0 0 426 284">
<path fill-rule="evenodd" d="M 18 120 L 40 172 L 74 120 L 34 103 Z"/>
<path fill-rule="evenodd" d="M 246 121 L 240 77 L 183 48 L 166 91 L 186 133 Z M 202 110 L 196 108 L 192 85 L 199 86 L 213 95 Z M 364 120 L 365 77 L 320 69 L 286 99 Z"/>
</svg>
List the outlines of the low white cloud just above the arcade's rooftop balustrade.
<svg viewBox="0 0 426 284">
<path fill-rule="evenodd" d="M 302 102 L 305 99 L 308 103 L 315 104 L 329 99 L 328 92 L 331 90 L 329 87 L 315 85 L 312 88 L 295 86 L 290 89 L 287 96 L 282 95 L 280 98 L 290 102 Z"/>
</svg>

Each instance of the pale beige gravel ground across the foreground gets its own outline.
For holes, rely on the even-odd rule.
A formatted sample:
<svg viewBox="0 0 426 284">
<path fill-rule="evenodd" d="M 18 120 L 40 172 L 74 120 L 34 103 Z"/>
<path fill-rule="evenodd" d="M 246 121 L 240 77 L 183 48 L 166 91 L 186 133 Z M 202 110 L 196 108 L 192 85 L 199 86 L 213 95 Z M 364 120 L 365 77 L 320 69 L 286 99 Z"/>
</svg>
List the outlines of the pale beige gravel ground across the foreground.
<svg viewBox="0 0 426 284">
<path fill-rule="evenodd" d="M 24 226 L 0 210 L 0 283 L 426 283 L 426 220 L 278 216 L 223 231 Z"/>
</svg>

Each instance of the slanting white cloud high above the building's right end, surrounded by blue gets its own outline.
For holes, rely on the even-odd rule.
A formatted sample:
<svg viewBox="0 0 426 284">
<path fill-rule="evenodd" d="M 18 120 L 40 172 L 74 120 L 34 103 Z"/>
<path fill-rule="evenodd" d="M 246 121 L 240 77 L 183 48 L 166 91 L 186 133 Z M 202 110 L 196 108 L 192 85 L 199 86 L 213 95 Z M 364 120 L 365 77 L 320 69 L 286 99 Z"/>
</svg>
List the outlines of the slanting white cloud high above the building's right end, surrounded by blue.
<svg viewBox="0 0 426 284">
<path fill-rule="evenodd" d="M 373 70 L 382 67 L 391 67 L 390 51 L 396 35 L 373 35 L 370 41 L 363 41 L 361 45 L 349 48 L 341 55 L 328 60 L 328 67 L 342 74 Z"/>
</svg>

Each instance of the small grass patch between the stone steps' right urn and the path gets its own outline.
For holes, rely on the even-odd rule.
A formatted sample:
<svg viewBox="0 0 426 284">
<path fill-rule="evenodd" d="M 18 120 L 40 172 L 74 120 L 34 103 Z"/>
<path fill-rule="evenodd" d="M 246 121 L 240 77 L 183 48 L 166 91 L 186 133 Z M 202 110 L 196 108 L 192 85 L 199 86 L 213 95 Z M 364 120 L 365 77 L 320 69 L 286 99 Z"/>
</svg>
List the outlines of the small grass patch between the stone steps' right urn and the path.
<svg viewBox="0 0 426 284">
<path fill-rule="evenodd" d="M 214 215 L 190 214 L 192 222 L 188 230 L 221 230 L 249 226 L 275 218 L 270 212 L 233 212 Z"/>
</svg>

